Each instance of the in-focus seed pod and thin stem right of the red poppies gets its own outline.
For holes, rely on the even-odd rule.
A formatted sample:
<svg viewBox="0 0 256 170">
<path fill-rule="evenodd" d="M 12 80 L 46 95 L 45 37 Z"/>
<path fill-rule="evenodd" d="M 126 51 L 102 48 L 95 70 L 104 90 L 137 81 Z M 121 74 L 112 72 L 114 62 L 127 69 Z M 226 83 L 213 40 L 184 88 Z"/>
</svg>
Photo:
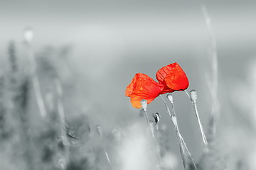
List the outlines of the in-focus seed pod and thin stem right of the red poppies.
<svg viewBox="0 0 256 170">
<path fill-rule="evenodd" d="M 186 90 L 185 90 L 185 92 L 186 92 Z M 200 120 L 199 115 L 198 115 L 198 109 L 197 109 L 197 106 L 196 106 L 196 99 L 197 99 L 196 91 L 195 90 L 191 90 L 190 91 L 190 95 L 188 94 L 188 92 L 186 92 L 186 94 L 188 95 L 188 98 L 191 100 L 194 112 L 196 113 L 196 119 L 198 120 L 198 125 L 199 125 L 199 129 L 200 129 L 201 136 L 202 136 L 202 139 L 203 139 L 203 144 L 206 147 L 206 152 L 209 152 L 208 142 L 207 142 L 207 139 L 206 139 L 206 135 L 205 135 L 205 133 L 203 131 L 203 125 L 201 124 L 201 120 Z"/>
</svg>

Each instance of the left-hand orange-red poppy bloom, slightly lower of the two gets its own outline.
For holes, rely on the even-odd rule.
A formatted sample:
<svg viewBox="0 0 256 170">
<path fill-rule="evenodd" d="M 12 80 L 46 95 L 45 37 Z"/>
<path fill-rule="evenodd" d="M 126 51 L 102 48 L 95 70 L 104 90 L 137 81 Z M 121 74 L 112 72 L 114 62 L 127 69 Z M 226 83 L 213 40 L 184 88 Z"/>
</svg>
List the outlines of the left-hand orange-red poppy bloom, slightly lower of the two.
<svg viewBox="0 0 256 170">
<path fill-rule="evenodd" d="M 137 73 L 127 86 L 125 96 L 131 98 L 134 108 L 141 108 L 142 99 L 149 104 L 161 94 L 162 89 L 164 89 L 164 85 L 157 83 L 146 74 Z"/>
</svg>

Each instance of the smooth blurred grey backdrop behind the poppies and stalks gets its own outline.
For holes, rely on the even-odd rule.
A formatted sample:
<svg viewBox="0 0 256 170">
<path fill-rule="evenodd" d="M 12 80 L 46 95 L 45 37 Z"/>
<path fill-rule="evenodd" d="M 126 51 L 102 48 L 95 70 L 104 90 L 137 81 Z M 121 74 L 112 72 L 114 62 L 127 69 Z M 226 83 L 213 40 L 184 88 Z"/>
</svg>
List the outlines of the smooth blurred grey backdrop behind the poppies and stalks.
<svg viewBox="0 0 256 170">
<path fill-rule="evenodd" d="M 218 136 L 225 139 L 220 140 L 221 148 L 227 153 L 238 147 L 244 151 L 244 129 L 252 130 L 250 141 L 255 141 L 256 1 L 0 1 L 1 67 L 6 67 L 10 40 L 16 42 L 19 60 L 27 60 L 23 30 L 31 26 L 37 56 L 42 49 L 50 49 L 48 57 L 68 51 L 65 67 L 60 68 L 63 83 L 73 88 L 71 93 L 64 91 L 67 119 L 85 114 L 92 127 L 100 124 L 111 131 L 138 120 L 139 110 L 124 96 L 134 74 L 155 79 L 158 69 L 178 62 L 190 81 L 188 90 L 198 91 L 198 110 L 206 126 L 212 102 L 206 74 L 212 74 L 212 63 L 202 4 L 217 44 Z M 183 92 L 175 92 L 174 99 L 181 132 L 198 159 L 203 143 L 193 108 Z M 148 110 L 161 113 L 162 125 L 171 128 L 160 98 Z M 242 142 L 235 143 L 238 139 Z M 169 142 L 177 145 L 171 132 Z M 179 157 L 178 147 L 171 151 Z"/>
</svg>

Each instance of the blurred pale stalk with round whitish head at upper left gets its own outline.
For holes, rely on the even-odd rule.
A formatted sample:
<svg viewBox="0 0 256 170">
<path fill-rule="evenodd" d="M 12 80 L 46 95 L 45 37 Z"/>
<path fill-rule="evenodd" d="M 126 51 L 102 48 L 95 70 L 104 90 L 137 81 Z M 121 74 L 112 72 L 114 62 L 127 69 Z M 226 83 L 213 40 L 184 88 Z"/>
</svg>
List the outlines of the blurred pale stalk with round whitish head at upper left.
<svg viewBox="0 0 256 170">
<path fill-rule="evenodd" d="M 39 109 L 41 117 L 45 118 L 46 117 L 46 106 L 43 102 L 43 95 L 41 94 L 41 87 L 39 84 L 38 77 L 36 75 L 36 61 L 35 61 L 35 56 L 33 54 L 32 47 L 31 47 L 31 41 L 33 39 L 32 30 L 30 30 L 30 29 L 26 30 L 24 33 L 24 38 L 25 38 L 26 47 L 27 47 L 28 59 L 31 62 L 32 84 L 33 84 L 33 89 L 34 89 L 35 95 L 36 95 L 36 102 L 38 103 L 38 109 Z"/>
</svg>

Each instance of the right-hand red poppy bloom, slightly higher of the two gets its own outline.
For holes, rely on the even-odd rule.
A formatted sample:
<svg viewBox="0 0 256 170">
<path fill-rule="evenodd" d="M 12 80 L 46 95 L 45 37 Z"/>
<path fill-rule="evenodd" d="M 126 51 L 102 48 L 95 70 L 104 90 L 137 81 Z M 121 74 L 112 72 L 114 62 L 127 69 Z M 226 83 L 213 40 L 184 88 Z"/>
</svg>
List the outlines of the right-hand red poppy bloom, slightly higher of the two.
<svg viewBox="0 0 256 170">
<path fill-rule="evenodd" d="M 159 81 L 159 84 L 164 85 L 161 94 L 183 91 L 189 85 L 188 77 L 186 77 L 185 72 L 176 62 L 159 69 L 156 72 L 156 79 Z"/>
</svg>

